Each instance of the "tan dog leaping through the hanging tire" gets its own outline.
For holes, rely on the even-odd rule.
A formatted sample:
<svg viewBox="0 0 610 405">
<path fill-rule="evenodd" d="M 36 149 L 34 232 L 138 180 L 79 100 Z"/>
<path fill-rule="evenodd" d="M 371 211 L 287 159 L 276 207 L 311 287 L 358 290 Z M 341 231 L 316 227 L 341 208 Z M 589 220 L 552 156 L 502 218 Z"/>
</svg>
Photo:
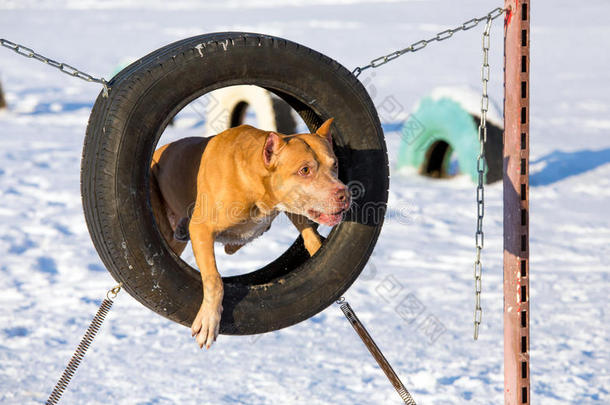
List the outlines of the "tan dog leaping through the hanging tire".
<svg viewBox="0 0 610 405">
<path fill-rule="evenodd" d="M 184 138 L 153 154 L 150 191 L 157 227 L 178 256 L 190 238 L 201 272 L 203 302 L 191 326 L 200 348 L 209 349 L 216 340 L 222 315 L 214 242 L 233 254 L 284 212 L 313 256 L 321 247 L 315 223 L 335 226 L 349 209 L 332 122 L 295 135 L 240 125 L 210 138 Z"/>
</svg>

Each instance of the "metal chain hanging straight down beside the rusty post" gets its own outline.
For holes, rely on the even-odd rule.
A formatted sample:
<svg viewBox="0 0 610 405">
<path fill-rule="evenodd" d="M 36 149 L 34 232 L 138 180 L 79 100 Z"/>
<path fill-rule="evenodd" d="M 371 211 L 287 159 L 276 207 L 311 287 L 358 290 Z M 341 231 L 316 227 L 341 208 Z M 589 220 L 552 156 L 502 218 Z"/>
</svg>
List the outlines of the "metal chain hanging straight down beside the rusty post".
<svg viewBox="0 0 610 405">
<path fill-rule="evenodd" d="M 479 123 L 479 156 L 477 157 L 477 172 L 479 183 L 477 185 L 477 231 L 475 233 L 476 254 L 474 259 L 474 340 L 479 338 L 479 325 L 483 309 L 481 308 L 481 251 L 483 250 L 483 216 L 485 214 L 485 142 L 487 142 L 487 110 L 489 110 L 489 97 L 487 96 L 487 84 L 489 83 L 489 44 L 491 23 L 493 18 L 487 18 L 485 30 L 483 31 L 483 66 L 481 67 L 481 122 Z"/>
</svg>

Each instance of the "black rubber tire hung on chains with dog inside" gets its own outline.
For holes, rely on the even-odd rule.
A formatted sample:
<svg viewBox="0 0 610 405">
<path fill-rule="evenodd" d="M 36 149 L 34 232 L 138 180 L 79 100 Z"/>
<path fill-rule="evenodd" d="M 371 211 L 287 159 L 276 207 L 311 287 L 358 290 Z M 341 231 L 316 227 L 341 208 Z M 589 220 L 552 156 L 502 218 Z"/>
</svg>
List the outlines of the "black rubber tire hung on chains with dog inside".
<svg viewBox="0 0 610 405">
<path fill-rule="evenodd" d="M 333 303 L 360 274 L 379 235 L 389 181 L 385 142 L 370 97 L 348 70 L 311 49 L 260 34 L 208 34 L 165 46 L 117 74 L 109 97 L 97 98 L 81 192 L 93 243 L 112 276 L 151 310 L 190 326 L 201 304 L 201 278 L 157 230 L 148 168 L 178 111 L 236 84 L 272 91 L 312 131 L 334 117 L 340 178 L 364 190 L 314 257 L 298 239 L 262 269 L 223 279 L 220 332 L 254 334 L 293 325 Z"/>
</svg>

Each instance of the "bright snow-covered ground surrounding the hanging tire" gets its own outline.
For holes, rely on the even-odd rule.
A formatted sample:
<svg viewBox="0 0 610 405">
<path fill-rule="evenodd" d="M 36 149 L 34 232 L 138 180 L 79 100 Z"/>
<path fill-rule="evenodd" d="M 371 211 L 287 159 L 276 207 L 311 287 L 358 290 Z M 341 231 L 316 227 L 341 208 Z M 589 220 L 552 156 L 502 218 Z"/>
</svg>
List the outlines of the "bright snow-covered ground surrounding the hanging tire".
<svg viewBox="0 0 610 405">
<path fill-rule="evenodd" d="M 0 0 L 0 37 L 104 75 L 121 61 L 212 31 L 281 35 L 347 67 L 479 16 L 496 3 L 292 0 L 209 2 Z M 532 402 L 610 402 L 610 4 L 540 0 L 532 26 Z M 434 87 L 479 86 L 480 30 L 363 75 L 404 113 Z M 500 24 L 492 30 L 492 97 L 501 101 Z M 114 284 L 86 231 L 79 159 L 99 87 L 0 49 L 10 109 L 0 113 L 0 402 L 40 403 Z M 399 109 L 400 110 L 400 109 Z M 400 142 L 387 133 L 395 161 Z M 501 403 L 501 185 L 486 194 L 483 325 L 472 341 L 474 187 L 393 170 L 374 255 L 346 295 L 419 404 Z M 222 257 L 255 268 L 290 242 Z M 261 249 L 264 246 L 265 249 Z M 268 252 L 261 253 L 263 250 Z M 423 314 L 403 319 L 402 303 Z M 435 319 L 429 339 L 418 325 Z M 121 293 L 65 394 L 87 404 L 400 403 L 343 315 L 331 307 L 260 337 L 189 332 Z"/>
</svg>

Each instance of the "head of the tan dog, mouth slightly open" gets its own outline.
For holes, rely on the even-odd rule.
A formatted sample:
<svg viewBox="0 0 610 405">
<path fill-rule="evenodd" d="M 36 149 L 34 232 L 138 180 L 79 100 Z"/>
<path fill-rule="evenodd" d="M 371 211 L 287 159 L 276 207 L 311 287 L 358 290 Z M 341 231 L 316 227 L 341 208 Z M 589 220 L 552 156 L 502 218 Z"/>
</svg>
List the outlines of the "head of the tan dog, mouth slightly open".
<svg viewBox="0 0 610 405">
<path fill-rule="evenodd" d="M 328 226 L 341 222 L 351 202 L 347 187 L 337 177 L 332 121 L 325 121 L 314 134 L 270 132 L 262 152 L 269 171 L 267 192 L 275 197 L 276 207 Z"/>
</svg>

